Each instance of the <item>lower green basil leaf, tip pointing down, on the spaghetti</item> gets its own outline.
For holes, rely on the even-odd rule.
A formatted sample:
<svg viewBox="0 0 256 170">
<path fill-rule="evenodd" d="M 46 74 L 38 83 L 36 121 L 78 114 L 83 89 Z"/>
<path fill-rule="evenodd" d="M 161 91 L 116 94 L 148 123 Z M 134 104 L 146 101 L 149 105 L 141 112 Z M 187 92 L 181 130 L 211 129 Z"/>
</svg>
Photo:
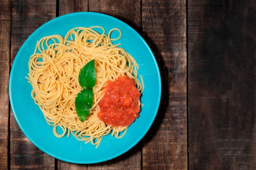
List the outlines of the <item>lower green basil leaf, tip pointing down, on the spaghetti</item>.
<svg viewBox="0 0 256 170">
<path fill-rule="evenodd" d="M 75 100 L 76 113 L 81 122 L 84 122 L 93 106 L 93 89 L 87 88 L 80 91 Z"/>
</svg>

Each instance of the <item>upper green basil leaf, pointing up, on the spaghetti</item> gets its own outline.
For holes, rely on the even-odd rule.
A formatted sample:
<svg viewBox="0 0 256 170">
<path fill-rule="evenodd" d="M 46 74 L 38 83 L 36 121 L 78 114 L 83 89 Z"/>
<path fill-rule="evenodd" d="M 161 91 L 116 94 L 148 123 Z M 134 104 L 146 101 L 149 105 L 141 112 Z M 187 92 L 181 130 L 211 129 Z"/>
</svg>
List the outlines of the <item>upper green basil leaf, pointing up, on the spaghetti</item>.
<svg viewBox="0 0 256 170">
<path fill-rule="evenodd" d="M 93 88 L 95 86 L 96 71 L 94 67 L 94 59 L 84 65 L 81 69 L 78 81 L 82 88 Z"/>
</svg>

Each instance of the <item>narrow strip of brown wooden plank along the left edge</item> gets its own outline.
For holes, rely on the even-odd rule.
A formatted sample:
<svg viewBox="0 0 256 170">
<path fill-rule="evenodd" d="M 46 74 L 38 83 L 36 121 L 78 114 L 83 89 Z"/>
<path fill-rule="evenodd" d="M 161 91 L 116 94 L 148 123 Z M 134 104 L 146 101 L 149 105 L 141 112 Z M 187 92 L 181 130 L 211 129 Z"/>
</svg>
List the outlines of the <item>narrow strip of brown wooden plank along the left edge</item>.
<svg viewBox="0 0 256 170">
<path fill-rule="evenodd" d="M 8 169 L 9 129 L 9 67 L 12 7 L 8 0 L 0 1 L 0 169 Z"/>
</svg>

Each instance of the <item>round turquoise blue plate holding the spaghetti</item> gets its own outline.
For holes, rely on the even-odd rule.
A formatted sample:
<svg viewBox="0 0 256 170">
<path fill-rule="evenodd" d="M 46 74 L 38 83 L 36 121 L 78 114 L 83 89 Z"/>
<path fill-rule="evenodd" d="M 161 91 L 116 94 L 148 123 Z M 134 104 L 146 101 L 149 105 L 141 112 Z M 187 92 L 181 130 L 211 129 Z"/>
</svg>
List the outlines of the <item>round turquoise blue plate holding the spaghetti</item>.
<svg viewBox="0 0 256 170">
<path fill-rule="evenodd" d="M 68 138 L 56 138 L 44 119 L 43 113 L 31 98 L 31 85 L 25 79 L 27 76 L 29 57 L 33 54 L 36 42 L 41 37 L 52 34 L 64 36 L 75 27 L 102 26 L 108 33 L 111 28 L 122 31 L 120 47 L 130 53 L 140 66 L 139 75 L 143 76 L 145 89 L 141 98 L 144 106 L 140 117 L 128 127 L 127 133 L 121 139 L 111 135 L 102 138 L 99 147 L 78 141 L 72 135 Z M 114 33 L 114 32 L 113 32 Z M 111 35 L 112 36 L 112 35 Z M 113 34 L 113 38 L 114 38 Z M 161 78 L 159 68 L 147 43 L 133 28 L 105 14 L 79 12 L 55 18 L 38 28 L 21 46 L 12 65 L 9 81 L 9 96 L 12 112 L 27 138 L 45 153 L 62 161 L 92 164 L 113 159 L 125 153 L 137 144 L 147 133 L 160 104 Z"/>
</svg>

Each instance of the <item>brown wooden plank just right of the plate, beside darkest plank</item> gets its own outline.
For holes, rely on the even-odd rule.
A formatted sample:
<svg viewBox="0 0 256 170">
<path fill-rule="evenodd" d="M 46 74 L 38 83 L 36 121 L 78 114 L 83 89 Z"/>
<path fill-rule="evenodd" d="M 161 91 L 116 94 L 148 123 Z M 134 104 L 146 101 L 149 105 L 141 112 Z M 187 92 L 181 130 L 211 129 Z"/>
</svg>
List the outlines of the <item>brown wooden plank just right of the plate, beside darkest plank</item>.
<svg viewBox="0 0 256 170">
<path fill-rule="evenodd" d="M 186 0 L 142 0 L 142 30 L 162 78 L 160 108 L 143 139 L 143 170 L 185 170 Z"/>
</svg>

